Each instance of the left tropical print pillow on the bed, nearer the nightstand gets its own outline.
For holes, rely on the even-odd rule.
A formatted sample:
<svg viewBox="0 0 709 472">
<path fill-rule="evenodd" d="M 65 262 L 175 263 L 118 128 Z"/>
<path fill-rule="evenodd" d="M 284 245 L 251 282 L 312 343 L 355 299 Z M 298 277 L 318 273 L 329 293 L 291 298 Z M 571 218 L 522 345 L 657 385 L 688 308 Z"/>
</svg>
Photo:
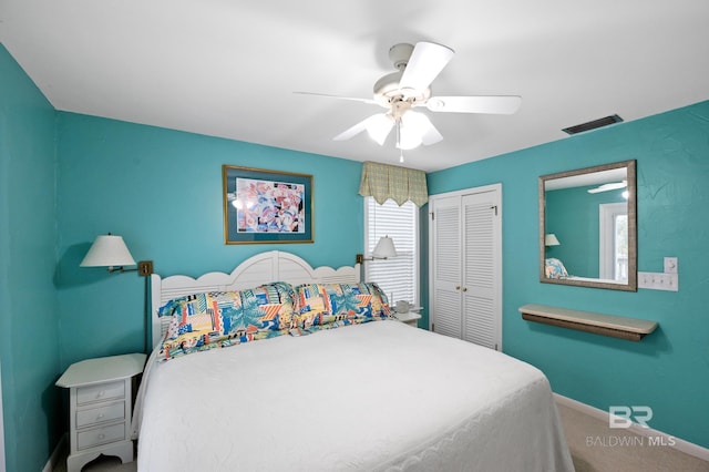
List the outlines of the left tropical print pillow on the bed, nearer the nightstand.
<svg viewBox="0 0 709 472">
<path fill-rule="evenodd" d="M 290 285 L 275 283 L 169 300 L 158 310 L 172 316 L 160 358 L 282 336 L 292 328 L 294 299 Z"/>
</svg>

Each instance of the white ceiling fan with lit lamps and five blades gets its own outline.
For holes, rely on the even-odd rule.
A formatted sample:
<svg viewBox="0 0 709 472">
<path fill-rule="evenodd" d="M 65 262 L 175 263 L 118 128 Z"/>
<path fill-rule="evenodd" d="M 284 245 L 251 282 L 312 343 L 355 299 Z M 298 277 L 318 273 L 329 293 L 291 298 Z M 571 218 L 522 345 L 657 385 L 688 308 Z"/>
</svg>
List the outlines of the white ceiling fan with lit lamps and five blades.
<svg viewBox="0 0 709 472">
<path fill-rule="evenodd" d="M 345 141 L 367 131 L 379 145 L 383 145 L 392 129 L 397 130 L 397 147 L 411 150 L 421 144 L 430 145 L 443 140 L 428 115 L 413 109 L 425 107 L 435 113 L 493 113 L 512 114 L 522 103 L 518 95 L 495 96 L 436 96 L 431 82 L 453 59 L 453 50 L 432 42 L 394 44 L 389 59 L 397 72 L 387 74 L 374 83 L 373 99 L 354 99 L 321 93 L 296 92 L 330 99 L 350 100 L 377 104 L 387 112 L 377 113 L 333 137 Z"/>
</svg>

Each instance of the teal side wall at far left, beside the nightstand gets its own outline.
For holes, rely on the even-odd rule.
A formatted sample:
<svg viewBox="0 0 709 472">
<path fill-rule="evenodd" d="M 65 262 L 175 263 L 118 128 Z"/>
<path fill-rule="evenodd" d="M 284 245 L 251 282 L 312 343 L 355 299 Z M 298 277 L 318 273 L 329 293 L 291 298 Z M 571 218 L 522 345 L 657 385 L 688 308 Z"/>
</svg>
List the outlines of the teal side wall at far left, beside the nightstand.
<svg viewBox="0 0 709 472">
<path fill-rule="evenodd" d="M 0 45 L 0 362 L 8 471 L 42 470 L 61 434 L 54 168 L 54 109 Z"/>
</svg>

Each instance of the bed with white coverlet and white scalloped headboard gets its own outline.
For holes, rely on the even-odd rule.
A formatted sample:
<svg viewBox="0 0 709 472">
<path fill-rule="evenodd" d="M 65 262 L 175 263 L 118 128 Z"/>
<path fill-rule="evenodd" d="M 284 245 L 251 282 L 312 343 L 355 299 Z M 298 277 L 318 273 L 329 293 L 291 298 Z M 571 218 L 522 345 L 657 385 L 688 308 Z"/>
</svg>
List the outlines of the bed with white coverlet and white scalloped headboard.
<svg viewBox="0 0 709 472">
<path fill-rule="evenodd" d="M 360 284 L 359 274 L 358 266 L 314 269 L 268 252 L 230 274 L 153 275 L 153 315 L 192 294 L 251 294 L 274 281 L 374 287 L 377 298 L 376 284 Z M 574 470 L 540 370 L 407 326 L 383 312 L 383 294 L 380 307 L 360 291 L 381 316 L 333 317 L 306 330 L 291 319 L 282 336 L 174 357 L 166 352 L 181 348 L 163 346 L 169 322 L 154 316 L 156 348 L 133 418 L 138 470 Z M 312 306 L 312 299 L 296 304 L 300 312 Z"/>
</svg>

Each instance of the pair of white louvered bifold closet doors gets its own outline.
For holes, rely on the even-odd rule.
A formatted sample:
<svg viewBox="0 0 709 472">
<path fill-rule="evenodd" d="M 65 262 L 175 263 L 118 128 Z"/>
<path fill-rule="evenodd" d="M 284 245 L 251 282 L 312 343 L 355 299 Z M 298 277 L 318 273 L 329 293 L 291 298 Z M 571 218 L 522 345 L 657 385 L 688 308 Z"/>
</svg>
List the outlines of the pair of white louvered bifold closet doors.
<svg viewBox="0 0 709 472">
<path fill-rule="evenodd" d="M 431 330 L 502 350 L 502 185 L 432 196 Z"/>
</svg>

